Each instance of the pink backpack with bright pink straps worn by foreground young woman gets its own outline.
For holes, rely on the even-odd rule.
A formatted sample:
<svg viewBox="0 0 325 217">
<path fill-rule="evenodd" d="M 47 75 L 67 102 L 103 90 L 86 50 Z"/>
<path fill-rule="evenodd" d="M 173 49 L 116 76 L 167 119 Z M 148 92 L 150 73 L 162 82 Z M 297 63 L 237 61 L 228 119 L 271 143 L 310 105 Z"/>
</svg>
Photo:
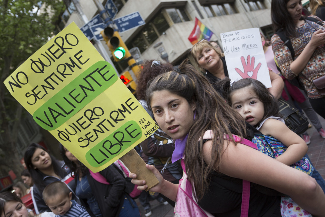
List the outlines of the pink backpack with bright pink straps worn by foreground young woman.
<svg viewBox="0 0 325 217">
<path fill-rule="evenodd" d="M 212 139 L 213 134 L 211 130 L 207 130 L 203 135 L 203 140 Z M 240 137 L 236 135 L 232 135 L 235 142 L 240 142 L 242 144 L 248 145 L 257 149 L 256 145 L 247 140 L 241 140 Z M 229 139 L 229 137 L 225 137 L 225 139 Z M 177 197 L 175 202 L 174 213 L 177 217 L 212 217 L 213 215 L 205 210 L 203 210 L 196 200 L 196 193 L 194 189 L 194 185 L 190 180 L 188 180 L 185 170 L 184 158 L 181 161 L 182 169 L 184 171 L 184 175 L 182 179 L 179 180 L 179 186 L 177 190 Z M 242 190 L 242 203 L 241 203 L 241 217 L 248 216 L 248 208 L 249 208 L 249 196 L 250 196 L 250 188 L 251 183 L 243 180 L 243 190 Z"/>
</svg>

